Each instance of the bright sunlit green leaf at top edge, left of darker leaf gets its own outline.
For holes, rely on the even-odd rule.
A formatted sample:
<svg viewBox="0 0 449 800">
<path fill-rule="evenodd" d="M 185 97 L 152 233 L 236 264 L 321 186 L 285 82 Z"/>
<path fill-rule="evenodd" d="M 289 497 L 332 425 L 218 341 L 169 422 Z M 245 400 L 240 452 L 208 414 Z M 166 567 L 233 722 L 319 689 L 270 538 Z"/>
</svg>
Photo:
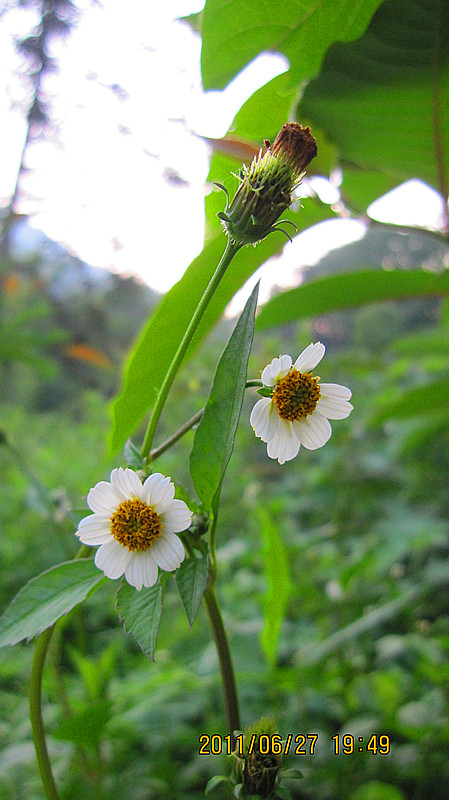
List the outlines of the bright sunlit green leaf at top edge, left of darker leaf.
<svg viewBox="0 0 449 800">
<path fill-rule="evenodd" d="M 205 89 L 222 89 L 260 52 L 284 53 L 291 77 L 316 75 L 328 47 L 360 36 L 382 0 L 207 0 L 201 26 Z"/>
</svg>

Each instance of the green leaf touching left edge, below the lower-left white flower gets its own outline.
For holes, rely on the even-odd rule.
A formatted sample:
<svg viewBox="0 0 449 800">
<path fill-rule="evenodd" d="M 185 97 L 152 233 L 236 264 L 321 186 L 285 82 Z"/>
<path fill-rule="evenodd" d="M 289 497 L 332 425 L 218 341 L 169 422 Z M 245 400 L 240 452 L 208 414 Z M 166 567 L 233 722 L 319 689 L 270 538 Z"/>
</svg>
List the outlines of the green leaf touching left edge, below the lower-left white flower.
<svg viewBox="0 0 449 800">
<path fill-rule="evenodd" d="M 66 561 L 32 578 L 0 619 L 0 647 L 38 636 L 104 580 L 91 558 Z"/>
</svg>

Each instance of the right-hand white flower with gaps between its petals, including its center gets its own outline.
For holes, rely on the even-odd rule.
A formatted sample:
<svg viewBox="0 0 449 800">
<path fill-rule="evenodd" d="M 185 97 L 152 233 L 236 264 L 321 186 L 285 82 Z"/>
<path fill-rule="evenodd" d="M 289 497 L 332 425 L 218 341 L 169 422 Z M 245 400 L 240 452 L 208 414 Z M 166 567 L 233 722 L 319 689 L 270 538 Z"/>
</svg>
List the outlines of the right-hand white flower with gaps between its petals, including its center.
<svg viewBox="0 0 449 800">
<path fill-rule="evenodd" d="M 293 364 L 290 356 L 273 358 L 262 371 L 264 394 L 254 406 L 250 422 L 266 442 L 270 458 L 290 461 L 301 445 L 322 447 L 329 439 L 330 419 L 345 419 L 353 406 L 351 390 L 338 383 L 320 383 L 311 371 L 324 356 L 321 342 L 309 344 Z"/>
</svg>

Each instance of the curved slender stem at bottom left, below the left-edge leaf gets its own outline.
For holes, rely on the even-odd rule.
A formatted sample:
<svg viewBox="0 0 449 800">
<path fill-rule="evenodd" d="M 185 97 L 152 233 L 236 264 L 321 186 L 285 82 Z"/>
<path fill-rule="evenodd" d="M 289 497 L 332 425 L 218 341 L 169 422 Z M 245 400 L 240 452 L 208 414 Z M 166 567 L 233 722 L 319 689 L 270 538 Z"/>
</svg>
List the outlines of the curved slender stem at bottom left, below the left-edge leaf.
<svg viewBox="0 0 449 800">
<path fill-rule="evenodd" d="M 42 721 L 42 671 L 52 633 L 53 626 L 47 628 L 36 640 L 33 664 L 31 667 L 29 699 L 33 741 L 36 748 L 37 763 L 39 765 L 39 772 L 41 774 L 45 794 L 47 800 L 59 800 L 58 790 L 56 789 L 50 758 L 48 756 L 44 724 Z"/>
</svg>

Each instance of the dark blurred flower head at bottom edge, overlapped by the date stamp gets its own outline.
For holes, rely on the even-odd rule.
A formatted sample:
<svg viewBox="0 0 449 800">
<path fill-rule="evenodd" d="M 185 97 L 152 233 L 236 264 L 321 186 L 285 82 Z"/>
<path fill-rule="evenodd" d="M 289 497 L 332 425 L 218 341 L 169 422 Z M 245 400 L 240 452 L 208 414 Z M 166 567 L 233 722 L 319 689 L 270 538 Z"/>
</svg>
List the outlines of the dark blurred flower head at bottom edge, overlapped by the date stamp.
<svg viewBox="0 0 449 800">
<path fill-rule="evenodd" d="M 276 723 L 271 717 L 262 717 L 255 725 L 246 728 L 243 746 L 235 753 L 236 777 L 242 783 L 243 796 L 272 796 L 282 764 L 282 748 L 279 745 L 277 752 L 274 751 L 276 738 L 273 737 L 280 740 Z"/>
</svg>

